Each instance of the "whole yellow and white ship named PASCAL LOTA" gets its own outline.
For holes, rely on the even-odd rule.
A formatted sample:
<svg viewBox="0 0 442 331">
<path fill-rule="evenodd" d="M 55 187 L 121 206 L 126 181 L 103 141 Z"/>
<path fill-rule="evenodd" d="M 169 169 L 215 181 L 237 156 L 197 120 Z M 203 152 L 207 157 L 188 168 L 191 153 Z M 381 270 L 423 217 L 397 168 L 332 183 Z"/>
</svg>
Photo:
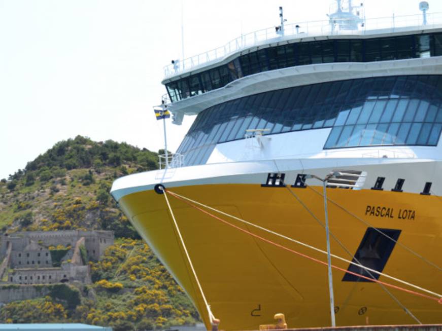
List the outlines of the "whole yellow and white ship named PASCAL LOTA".
<svg viewBox="0 0 442 331">
<path fill-rule="evenodd" d="M 280 8 L 165 67 L 163 109 L 196 118 L 111 193 L 208 329 L 442 323 L 442 15 L 420 9 Z"/>
</svg>

